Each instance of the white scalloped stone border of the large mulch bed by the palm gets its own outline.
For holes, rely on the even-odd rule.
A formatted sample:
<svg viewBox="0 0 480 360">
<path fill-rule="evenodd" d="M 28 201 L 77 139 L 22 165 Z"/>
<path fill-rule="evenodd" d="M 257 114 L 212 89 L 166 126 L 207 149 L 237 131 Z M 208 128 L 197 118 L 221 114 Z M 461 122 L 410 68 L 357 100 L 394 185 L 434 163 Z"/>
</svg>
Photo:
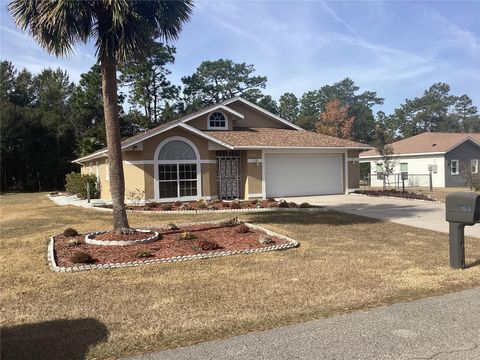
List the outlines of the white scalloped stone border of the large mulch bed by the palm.
<svg viewBox="0 0 480 360">
<path fill-rule="evenodd" d="M 201 224 L 217 224 L 222 222 L 221 221 L 202 221 L 202 222 L 195 222 L 195 223 L 188 223 L 188 224 L 181 224 L 178 225 L 179 228 L 187 227 L 187 226 L 192 226 L 192 225 L 201 225 Z M 148 265 L 148 264 L 161 264 L 161 263 L 173 263 L 173 262 L 179 262 L 179 261 L 189 261 L 189 260 L 200 260 L 200 259 L 211 259 L 211 258 L 216 258 L 216 257 L 222 257 L 222 256 L 231 256 L 231 255 L 239 255 L 239 254 L 253 254 L 253 253 L 259 253 L 259 252 L 268 252 L 268 251 L 277 251 L 277 250 L 286 250 L 286 249 L 291 249 L 294 247 L 299 246 L 299 242 L 295 239 L 292 239 L 288 236 L 278 234 L 274 231 L 265 229 L 264 227 L 250 224 L 250 223 L 245 223 L 245 225 L 261 230 L 265 232 L 267 235 L 270 236 L 275 236 L 278 237 L 282 240 L 287 241 L 286 244 L 282 245 L 272 245 L 272 246 L 267 246 L 263 248 L 257 248 L 257 249 L 245 249 L 245 250 L 232 250 L 232 251 L 212 251 L 212 252 L 207 252 L 207 253 L 202 253 L 202 254 L 195 254 L 195 255 L 184 255 L 184 256 L 174 256 L 174 257 L 169 257 L 169 258 L 162 258 L 162 259 L 155 259 L 155 260 L 139 260 L 139 261 L 128 261 L 124 263 L 108 263 L 108 264 L 81 264 L 81 265 L 73 265 L 73 266 L 67 266 L 67 267 L 62 267 L 58 266 L 57 262 L 55 260 L 55 250 L 54 250 L 54 245 L 55 245 L 55 237 L 61 234 L 56 234 L 50 237 L 49 242 L 48 242 L 48 248 L 47 248 L 47 259 L 48 259 L 48 264 L 52 271 L 54 272 L 77 272 L 77 271 L 87 271 L 87 270 L 95 270 L 95 269 L 115 269 L 115 268 L 126 268 L 126 267 L 133 267 L 133 266 L 140 266 L 140 265 Z M 158 227 L 153 227 L 153 228 L 163 228 L 164 226 L 158 226 Z"/>
</svg>

